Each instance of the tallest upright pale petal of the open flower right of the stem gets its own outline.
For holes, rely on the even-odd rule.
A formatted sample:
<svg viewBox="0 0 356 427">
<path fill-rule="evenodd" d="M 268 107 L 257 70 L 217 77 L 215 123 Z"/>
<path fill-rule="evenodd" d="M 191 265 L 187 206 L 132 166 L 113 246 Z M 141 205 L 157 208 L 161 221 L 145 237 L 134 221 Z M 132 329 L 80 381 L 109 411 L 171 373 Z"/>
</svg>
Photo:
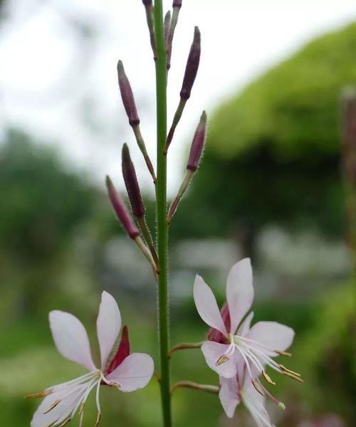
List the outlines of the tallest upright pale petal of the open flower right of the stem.
<svg viewBox="0 0 356 427">
<path fill-rule="evenodd" d="M 252 268 L 250 258 L 236 263 L 227 277 L 226 300 L 231 317 L 231 334 L 251 308 L 253 302 Z"/>
</svg>

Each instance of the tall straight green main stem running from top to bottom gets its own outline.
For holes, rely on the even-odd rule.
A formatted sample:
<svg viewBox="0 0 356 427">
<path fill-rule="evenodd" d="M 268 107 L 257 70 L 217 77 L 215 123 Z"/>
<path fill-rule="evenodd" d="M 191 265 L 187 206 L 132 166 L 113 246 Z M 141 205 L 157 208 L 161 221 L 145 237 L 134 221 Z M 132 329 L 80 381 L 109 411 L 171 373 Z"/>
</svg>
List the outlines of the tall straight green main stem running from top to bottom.
<svg viewBox="0 0 356 427">
<path fill-rule="evenodd" d="M 169 379 L 169 297 L 168 297 L 168 226 L 167 216 L 167 159 L 164 145 L 167 137 L 167 75 L 166 46 L 162 0 L 155 1 L 155 36 L 157 47 L 157 250 L 159 258 L 158 322 L 159 355 L 161 362 L 161 399 L 164 427 L 172 427 Z"/>
</svg>

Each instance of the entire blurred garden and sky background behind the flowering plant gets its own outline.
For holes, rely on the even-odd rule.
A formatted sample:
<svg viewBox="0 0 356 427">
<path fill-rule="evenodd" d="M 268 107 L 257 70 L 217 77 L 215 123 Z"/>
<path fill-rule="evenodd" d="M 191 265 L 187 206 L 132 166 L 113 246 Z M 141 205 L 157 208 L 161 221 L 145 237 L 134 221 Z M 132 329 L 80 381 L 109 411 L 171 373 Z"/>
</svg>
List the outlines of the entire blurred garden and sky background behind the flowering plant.
<svg viewBox="0 0 356 427">
<path fill-rule="evenodd" d="M 203 52 L 169 152 L 170 197 L 201 110 L 210 120 L 204 163 L 171 227 L 172 343 L 206 335 L 194 275 L 222 303 L 227 271 L 248 255 L 255 320 L 295 329 L 288 362 L 305 379 L 278 378 L 275 394 L 287 410 L 269 408 L 273 420 L 355 426 L 355 279 L 346 243 L 355 188 L 342 168 L 340 93 L 356 85 L 356 4 L 286 3 L 183 1 L 169 120 L 194 24 Z M 117 90 L 118 58 L 155 159 L 155 74 L 142 2 L 0 0 L 1 426 L 29 425 L 38 401 L 23 394 L 82 374 L 56 352 L 50 310 L 80 317 L 96 348 L 100 292 L 108 290 L 132 349 L 157 360 L 150 267 L 122 233 L 103 185 L 109 173 L 122 189 L 120 150 L 128 142 L 153 228 L 153 189 Z M 176 354 L 172 371 L 174 380 L 217 380 L 199 350 Z M 154 380 L 132 394 L 105 389 L 102 406 L 103 427 L 161 422 Z M 178 390 L 173 407 L 177 427 L 254 426 L 243 408 L 228 421 L 216 396 L 197 391 Z M 93 401 L 87 411 L 92 425 Z"/>
</svg>

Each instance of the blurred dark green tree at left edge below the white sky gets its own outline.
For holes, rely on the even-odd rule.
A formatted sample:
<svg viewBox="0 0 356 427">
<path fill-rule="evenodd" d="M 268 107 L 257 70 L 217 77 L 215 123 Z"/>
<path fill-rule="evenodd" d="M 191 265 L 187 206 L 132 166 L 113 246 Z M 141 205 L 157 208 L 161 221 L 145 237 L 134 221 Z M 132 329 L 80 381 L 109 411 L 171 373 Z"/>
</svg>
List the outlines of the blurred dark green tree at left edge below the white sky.
<svg viewBox="0 0 356 427">
<path fill-rule="evenodd" d="M 52 149 L 10 131 L 0 147 L 1 247 L 36 260 L 50 257 L 88 218 L 92 195 Z"/>
</svg>

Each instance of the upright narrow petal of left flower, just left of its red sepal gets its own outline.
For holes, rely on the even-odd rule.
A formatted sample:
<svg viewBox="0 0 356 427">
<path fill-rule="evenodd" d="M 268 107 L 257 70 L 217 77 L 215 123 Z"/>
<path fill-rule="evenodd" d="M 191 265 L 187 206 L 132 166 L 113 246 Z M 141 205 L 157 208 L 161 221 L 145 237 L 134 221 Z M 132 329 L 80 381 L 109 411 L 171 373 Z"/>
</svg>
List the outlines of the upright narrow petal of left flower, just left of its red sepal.
<svg viewBox="0 0 356 427">
<path fill-rule="evenodd" d="M 105 369 L 106 362 L 121 329 L 121 315 L 115 299 L 103 292 L 96 322 L 100 345 L 101 369 Z"/>
</svg>

